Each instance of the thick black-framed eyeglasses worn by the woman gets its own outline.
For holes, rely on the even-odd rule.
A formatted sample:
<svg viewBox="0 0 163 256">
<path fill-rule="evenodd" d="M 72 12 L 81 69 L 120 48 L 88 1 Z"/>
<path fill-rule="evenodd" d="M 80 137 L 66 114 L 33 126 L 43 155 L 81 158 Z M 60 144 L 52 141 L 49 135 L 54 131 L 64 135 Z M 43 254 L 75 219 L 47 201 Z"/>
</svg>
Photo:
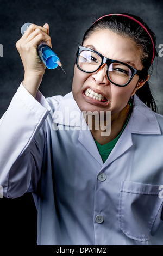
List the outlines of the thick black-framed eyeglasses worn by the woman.
<svg viewBox="0 0 163 256">
<path fill-rule="evenodd" d="M 80 70 L 93 73 L 101 68 L 104 63 L 107 65 L 108 80 L 115 86 L 127 86 L 134 75 L 140 76 L 142 74 L 142 70 L 137 70 L 133 66 L 118 60 L 108 59 L 91 48 L 79 46 L 76 64 Z"/>
</svg>

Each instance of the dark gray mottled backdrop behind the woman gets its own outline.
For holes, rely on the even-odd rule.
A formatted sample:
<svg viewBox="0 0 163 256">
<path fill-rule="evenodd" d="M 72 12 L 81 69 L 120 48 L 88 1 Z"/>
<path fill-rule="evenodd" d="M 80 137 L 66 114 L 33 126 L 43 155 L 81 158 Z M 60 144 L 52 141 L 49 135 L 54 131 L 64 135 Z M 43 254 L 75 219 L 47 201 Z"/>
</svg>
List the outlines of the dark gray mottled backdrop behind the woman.
<svg viewBox="0 0 163 256">
<path fill-rule="evenodd" d="M 21 37 L 20 28 L 24 23 L 32 22 L 41 26 L 49 23 L 53 50 L 60 57 L 66 75 L 60 68 L 47 69 L 40 90 L 46 97 L 65 95 L 71 90 L 74 56 L 85 30 L 96 18 L 123 11 L 141 16 L 155 32 L 157 45 L 163 44 L 162 1 L 0 0 L 0 44 L 3 45 L 3 57 L 0 57 L 0 117 L 23 80 L 23 66 L 15 44 Z M 163 57 L 158 57 L 150 84 L 161 114 L 162 77 Z M 36 244 L 36 210 L 30 195 L 18 199 L 0 199 L 0 221 L 1 244 Z"/>
</svg>

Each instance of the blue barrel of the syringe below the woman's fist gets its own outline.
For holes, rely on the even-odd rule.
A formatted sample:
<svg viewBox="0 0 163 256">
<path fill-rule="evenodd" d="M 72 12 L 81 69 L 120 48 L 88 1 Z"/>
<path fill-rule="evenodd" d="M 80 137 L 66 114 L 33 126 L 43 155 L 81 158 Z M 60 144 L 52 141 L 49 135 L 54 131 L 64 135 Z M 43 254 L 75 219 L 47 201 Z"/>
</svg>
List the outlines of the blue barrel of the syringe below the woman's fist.
<svg viewBox="0 0 163 256">
<path fill-rule="evenodd" d="M 42 62 L 46 65 L 48 69 L 55 69 L 58 66 L 58 62 L 60 62 L 58 56 L 52 51 L 52 48 L 48 46 L 46 43 L 41 43 L 37 52 Z"/>
</svg>

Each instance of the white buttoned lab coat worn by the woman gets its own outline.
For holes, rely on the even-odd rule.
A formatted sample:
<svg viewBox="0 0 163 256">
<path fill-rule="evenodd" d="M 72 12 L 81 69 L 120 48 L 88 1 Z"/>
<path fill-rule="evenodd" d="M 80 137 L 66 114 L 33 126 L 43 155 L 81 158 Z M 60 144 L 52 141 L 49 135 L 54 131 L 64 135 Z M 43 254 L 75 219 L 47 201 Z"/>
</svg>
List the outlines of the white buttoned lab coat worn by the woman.
<svg viewBox="0 0 163 256">
<path fill-rule="evenodd" d="M 72 93 L 34 99 L 21 84 L 0 125 L 4 196 L 33 193 L 38 245 L 163 245 L 162 116 L 135 95 L 105 163 L 81 120 Z"/>
</svg>

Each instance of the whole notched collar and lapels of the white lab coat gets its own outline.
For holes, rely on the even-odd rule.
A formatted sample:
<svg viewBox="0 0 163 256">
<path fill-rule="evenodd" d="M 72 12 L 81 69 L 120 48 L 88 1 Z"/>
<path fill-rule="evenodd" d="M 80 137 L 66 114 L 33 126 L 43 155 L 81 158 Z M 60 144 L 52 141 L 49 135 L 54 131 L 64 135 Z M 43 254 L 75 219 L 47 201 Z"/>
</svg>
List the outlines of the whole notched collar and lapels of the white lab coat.
<svg viewBox="0 0 163 256">
<path fill-rule="evenodd" d="M 57 118 L 56 118 L 57 116 Z M 75 118 L 74 118 L 75 117 Z M 74 118 L 74 120 L 72 119 Z M 73 120 L 73 122 L 72 122 Z M 54 115 L 54 123 L 65 126 L 76 126 L 79 131 L 79 142 L 86 148 L 89 154 L 91 154 L 95 161 L 101 166 L 101 170 L 105 169 L 111 162 L 113 162 L 117 157 L 121 156 L 125 151 L 127 151 L 132 145 L 132 133 L 138 134 L 160 134 L 160 128 L 156 115 L 151 109 L 149 109 L 143 102 L 134 96 L 134 108 L 131 114 L 130 120 L 124 129 L 122 135 L 118 139 L 114 149 L 111 151 L 108 159 L 103 163 L 102 158 L 96 147 L 96 143 L 91 136 L 91 131 L 88 129 L 83 129 L 80 124 L 86 124 L 82 111 L 80 111 L 77 106 L 76 101 L 73 99 L 72 92 L 65 95 L 60 101 Z M 95 145 L 95 147 L 93 147 Z M 121 145 L 121 147 L 120 147 Z"/>
</svg>

